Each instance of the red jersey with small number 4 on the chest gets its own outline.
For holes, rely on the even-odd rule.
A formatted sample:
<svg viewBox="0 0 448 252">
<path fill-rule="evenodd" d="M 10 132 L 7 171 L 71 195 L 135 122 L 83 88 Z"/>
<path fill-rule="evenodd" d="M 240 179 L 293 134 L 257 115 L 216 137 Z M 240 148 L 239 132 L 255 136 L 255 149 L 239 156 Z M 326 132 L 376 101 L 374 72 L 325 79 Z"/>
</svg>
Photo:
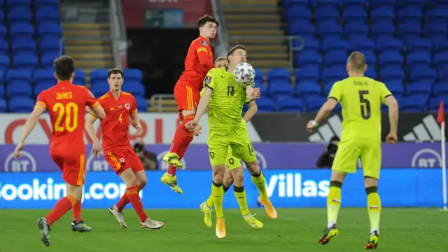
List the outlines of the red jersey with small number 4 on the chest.
<svg viewBox="0 0 448 252">
<path fill-rule="evenodd" d="M 104 152 L 130 147 L 129 117 L 137 113 L 135 97 L 122 91 L 120 97 L 115 99 L 109 91 L 98 102 L 106 111 L 106 118 L 101 120 Z"/>
</svg>

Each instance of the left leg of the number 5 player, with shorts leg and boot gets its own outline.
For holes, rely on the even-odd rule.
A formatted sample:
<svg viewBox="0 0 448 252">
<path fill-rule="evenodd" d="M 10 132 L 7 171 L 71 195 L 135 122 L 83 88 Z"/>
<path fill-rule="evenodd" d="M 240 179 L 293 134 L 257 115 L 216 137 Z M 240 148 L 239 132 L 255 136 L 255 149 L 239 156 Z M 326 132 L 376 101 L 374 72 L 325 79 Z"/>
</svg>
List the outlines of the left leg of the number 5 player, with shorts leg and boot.
<svg viewBox="0 0 448 252">
<path fill-rule="evenodd" d="M 335 160 L 332 165 L 330 191 L 327 196 L 327 228 L 323 231 L 319 244 L 325 245 L 332 237 L 339 234 L 337 230 L 337 216 L 341 208 L 342 183 L 347 173 L 356 172 L 356 162 L 360 151 L 353 142 L 341 141 L 338 144 Z"/>
</svg>

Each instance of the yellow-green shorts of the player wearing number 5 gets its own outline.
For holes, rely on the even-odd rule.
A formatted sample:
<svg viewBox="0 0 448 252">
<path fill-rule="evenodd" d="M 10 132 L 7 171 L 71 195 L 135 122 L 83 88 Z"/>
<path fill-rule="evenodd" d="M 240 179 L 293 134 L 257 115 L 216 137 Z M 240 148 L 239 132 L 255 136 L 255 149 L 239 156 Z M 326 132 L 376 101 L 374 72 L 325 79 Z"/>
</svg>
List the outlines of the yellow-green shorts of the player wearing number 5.
<svg viewBox="0 0 448 252">
<path fill-rule="evenodd" d="M 366 139 L 350 139 L 337 144 L 332 168 L 337 172 L 356 173 L 358 158 L 364 176 L 379 179 L 381 170 L 381 142 Z"/>
</svg>

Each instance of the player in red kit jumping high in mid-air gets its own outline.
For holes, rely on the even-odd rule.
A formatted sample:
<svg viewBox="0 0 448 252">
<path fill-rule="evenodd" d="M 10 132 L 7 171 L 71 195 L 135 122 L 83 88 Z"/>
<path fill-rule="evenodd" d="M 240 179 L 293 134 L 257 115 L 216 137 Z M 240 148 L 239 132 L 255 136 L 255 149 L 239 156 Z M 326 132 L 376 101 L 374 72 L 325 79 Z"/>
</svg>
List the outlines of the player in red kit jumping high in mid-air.
<svg viewBox="0 0 448 252">
<path fill-rule="evenodd" d="M 218 25 L 218 20 L 211 15 L 204 15 L 197 20 L 200 36 L 188 48 L 185 59 L 185 71 L 183 71 L 174 87 L 174 97 L 179 109 L 179 120 L 182 123 L 177 127 L 176 133 L 174 133 L 169 153 L 163 157 L 163 161 L 169 167 L 168 172 L 163 174 L 161 180 L 162 183 L 165 183 L 179 194 L 183 193 L 183 191 L 176 179 L 176 168 L 183 167 L 180 160 L 183 158 L 188 145 L 193 141 L 193 132 L 186 130 L 185 125 L 195 118 L 204 78 L 209 70 L 214 68 L 210 40 L 215 38 Z"/>
</svg>

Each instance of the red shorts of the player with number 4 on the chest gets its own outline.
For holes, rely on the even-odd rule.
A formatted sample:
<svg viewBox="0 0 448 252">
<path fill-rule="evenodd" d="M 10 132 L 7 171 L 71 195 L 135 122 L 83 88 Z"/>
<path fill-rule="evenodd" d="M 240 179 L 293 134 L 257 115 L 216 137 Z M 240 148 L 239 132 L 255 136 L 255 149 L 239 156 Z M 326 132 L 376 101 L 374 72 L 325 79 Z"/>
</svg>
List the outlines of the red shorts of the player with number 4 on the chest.
<svg viewBox="0 0 448 252">
<path fill-rule="evenodd" d="M 104 151 L 106 161 L 113 168 L 116 174 L 120 175 L 127 169 L 132 172 L 140 172 L 144 170 L 143 164 L 132 148 L 123 148 L 117 151 Z"/>
</svg>

